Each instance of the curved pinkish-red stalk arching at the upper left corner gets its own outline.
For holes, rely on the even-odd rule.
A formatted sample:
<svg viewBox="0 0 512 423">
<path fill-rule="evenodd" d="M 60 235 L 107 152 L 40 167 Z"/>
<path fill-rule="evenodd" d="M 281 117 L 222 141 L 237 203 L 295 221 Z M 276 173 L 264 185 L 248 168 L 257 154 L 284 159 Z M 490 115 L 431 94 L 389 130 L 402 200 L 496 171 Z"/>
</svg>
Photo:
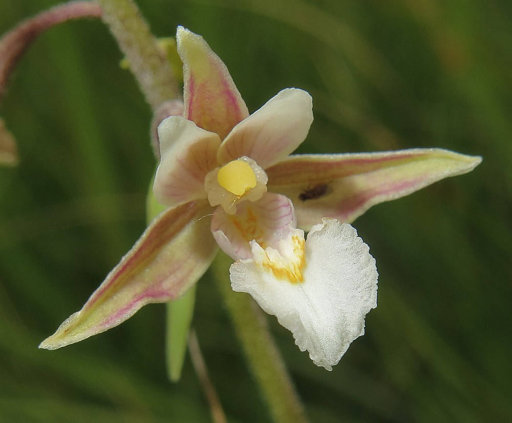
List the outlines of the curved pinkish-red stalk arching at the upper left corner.
<svg viewBox="0 0 512 423">
<path fill-rule="evenodd" d="M 92 2 L 61 4 L 20 23 L 0 39 L 0 100 L 14 66 L 34 39 L 55 25 L 82 17 L 101 17 L 101 7 Z"/>
</svg>

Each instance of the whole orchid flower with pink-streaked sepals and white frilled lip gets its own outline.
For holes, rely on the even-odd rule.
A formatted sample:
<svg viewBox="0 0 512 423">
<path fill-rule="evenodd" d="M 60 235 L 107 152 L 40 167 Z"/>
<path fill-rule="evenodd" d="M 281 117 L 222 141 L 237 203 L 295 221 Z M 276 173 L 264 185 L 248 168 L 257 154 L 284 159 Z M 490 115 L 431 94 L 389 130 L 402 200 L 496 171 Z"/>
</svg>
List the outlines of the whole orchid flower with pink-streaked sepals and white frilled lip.
<svg viewBox="0 0 512 423">
<path fill-rule="evenodd" d="M 375 204 L 469 172 L 481 159 L 442 149 L 290 155 L 313 120 L 306 91 L 285 89 L 249 114 L 202 37 L 180 27 L 177 46 L 183 114 L 158 127 L 153 187 L 168 208 L 40 347 L 75 343 L 145 304 L 179 298 L 220 247 L 236 260 L 232 288 L 251 294 L 330 370 L 376 306 L 375 260 L 349 223 Z"/>
</svg>

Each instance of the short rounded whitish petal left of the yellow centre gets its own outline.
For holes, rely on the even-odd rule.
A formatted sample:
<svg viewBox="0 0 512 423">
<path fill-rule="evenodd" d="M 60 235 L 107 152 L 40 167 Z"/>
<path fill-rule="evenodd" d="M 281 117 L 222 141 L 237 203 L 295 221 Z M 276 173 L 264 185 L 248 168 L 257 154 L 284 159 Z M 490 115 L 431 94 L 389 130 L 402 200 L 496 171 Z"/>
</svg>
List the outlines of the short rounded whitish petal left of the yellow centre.
<svg viewBox="0 0 512 423">
<path fill-rule="evenodd" d="M 175 207 L 206 198 L 204 179 L 217 167 L 219 135 L 184 117 L 171 116 L 159 125 L 158 138 L 161 159 L 153 184 L 158 201 Z"/>
</svg>

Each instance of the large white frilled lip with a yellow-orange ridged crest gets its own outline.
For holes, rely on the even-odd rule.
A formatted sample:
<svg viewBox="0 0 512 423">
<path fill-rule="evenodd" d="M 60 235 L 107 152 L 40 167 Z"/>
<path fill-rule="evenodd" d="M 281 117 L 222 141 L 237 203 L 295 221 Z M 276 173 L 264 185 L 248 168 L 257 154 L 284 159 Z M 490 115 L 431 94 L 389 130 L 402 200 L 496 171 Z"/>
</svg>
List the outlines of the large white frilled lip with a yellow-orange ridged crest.
<svg viewBox="0 0 512 423">
<path fill-rule="evenodd" d="M 231 265 L 231 286 L 251 294 L 293 333 L 317 366 L 332 370 L 350 343 L 364 334 L 365 316 L 377 306 L 375 259 L 352 226 L 323 219 L 305 241 L 301 270 L 301 260 L 293 259 L 300 256 L 301 237 L 304 232 L 295 230 L 279 252 L 252 243 L 253 258 Z M 286 270 L 287 262 L 295 266 Z M 292 282 L 286 275 L 297 274 L 297 266 L 303 280 Z"/>
</svg>

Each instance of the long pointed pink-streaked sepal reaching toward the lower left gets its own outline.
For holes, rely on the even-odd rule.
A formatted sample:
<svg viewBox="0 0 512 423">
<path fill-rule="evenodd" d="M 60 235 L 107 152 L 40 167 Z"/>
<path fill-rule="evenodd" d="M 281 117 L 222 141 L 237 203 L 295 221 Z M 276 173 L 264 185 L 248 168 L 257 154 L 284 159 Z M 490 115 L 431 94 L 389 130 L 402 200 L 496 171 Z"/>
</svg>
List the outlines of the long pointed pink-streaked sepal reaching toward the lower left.
<svg viewBox="0 0 512 423">
<path fill-rule="evenodd" d="M 39 348 L 54 350 L 111 329 L 148 303 L 180 297 L 203 275 L 217 252 L 205 202 L 157 216 L 83 308 Z"/>
</svg>

